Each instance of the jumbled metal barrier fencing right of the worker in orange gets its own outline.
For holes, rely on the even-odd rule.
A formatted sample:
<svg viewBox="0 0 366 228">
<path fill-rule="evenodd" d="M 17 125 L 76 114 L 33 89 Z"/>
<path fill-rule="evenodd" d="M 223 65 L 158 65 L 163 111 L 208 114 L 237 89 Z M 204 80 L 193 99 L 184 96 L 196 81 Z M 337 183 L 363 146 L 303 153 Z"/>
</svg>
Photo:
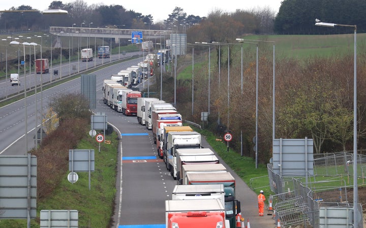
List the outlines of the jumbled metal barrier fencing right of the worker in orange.
<svg viewBox="0 0 366 228">
<path fill-rule="evenodd" d="M 347 189 L 353 187 L 353 161 L 351 153 L 314 154 L 314 175 L 284 172 L 280 175 L 267 164 L 269 186 L 274 193 L 268 201 L 275 209 L 275 221 L 280 219 L 281 227 L 303 224 L 318 228 L 320 207 L 353 207 L 347 196 Z M 358 155 L 356 161 L 357 174 L 363 183 L 366 156 Z M 362 215 L 360 204 L 358 211 Z"/>
</svg>

